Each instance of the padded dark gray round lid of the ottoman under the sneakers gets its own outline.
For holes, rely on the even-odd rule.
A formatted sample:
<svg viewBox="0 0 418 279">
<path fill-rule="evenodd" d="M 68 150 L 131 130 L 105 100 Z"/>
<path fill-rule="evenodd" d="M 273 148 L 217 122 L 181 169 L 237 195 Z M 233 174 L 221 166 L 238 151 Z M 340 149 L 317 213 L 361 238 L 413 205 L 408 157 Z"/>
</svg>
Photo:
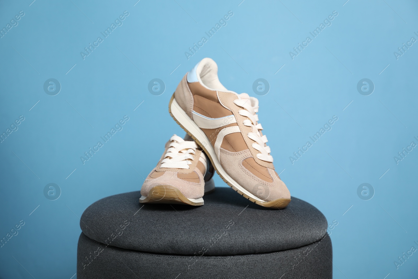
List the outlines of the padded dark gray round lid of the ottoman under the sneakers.
<svg viewBox="0 0 418 279">
<path fill-rule="evenodd" d="M 143 206 L 139 197 L 138 191 L 94 202 L 81 217 L 83 233 L 119 248 L 205 256 L 283 251 L 326 234 L 324 215 L 295 197 L 283 210 L 261 207 L 225 187 L 205 195 L 200 207 Z"/>
</svg>

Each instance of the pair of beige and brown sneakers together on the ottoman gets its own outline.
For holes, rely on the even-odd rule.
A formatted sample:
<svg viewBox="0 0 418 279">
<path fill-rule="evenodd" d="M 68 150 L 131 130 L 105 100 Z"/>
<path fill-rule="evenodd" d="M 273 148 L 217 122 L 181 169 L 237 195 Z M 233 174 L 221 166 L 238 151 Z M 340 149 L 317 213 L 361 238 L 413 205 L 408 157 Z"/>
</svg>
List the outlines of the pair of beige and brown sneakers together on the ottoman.
<svg viewBox="0 0 418 279">
<path fill-rule="evenodd" d="M 280 209 L 289 204 L 289 190 L 274 169 L 258 123 L 258 100 L 227 90 L 212 59 L 204 58 L 186 73 L 168 110 L 190 137 L 174 135 L 166 143 L 141 188 L 141 203 L 203 205 L 203 195 L 214 190 L 214 168 L 258 205 Z"/>
</svg>

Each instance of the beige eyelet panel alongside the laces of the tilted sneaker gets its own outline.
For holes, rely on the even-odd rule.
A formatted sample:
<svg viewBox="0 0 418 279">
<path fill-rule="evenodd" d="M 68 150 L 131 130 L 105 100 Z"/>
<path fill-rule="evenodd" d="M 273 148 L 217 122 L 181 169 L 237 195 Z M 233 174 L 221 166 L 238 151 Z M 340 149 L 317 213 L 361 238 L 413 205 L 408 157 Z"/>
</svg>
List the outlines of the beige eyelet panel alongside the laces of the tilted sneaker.
<svg viewBox="0 0 418 279">
<path fill-rule="evenodd" d="M 259 164 L 260 166 L 265 166 L 269 169 L 274 169 L 274 165 L 273 163 L 270 162 L 266 162 L 263 160 L 260 160 L 257 158 L 257 154 L 259 153 L 255 148 L 252 147 L 252 143 L 254 143 L 255 141 L 252 141 L 250 138 L 248 138 L 247 133 L 252 132 L 251 127 L 245 126 L 243 121 L 245 119 L 248 119 L 245 116 L 242 116 L 238 113 L 239 110 L 241 110 L 242 108 L 240 108 L 239 106 L 234 104 L 234 100 L 238 99 L 238 97 L 234 94 L 234 93 L 229 93 L 229 92 L 220 92 L 218 91 L 218 96 L 219 96 L 219 100 L 222 102 L 222 104 L 229 108 L 232 113 L 235 116 L 235 119 L 237 119 L 237 123 L 238 126 L 240 126 L 240 130 L 242 133 L 242 136 L 244 138 L 245 143 L 247 144 L 247 148 L 250 149 L 251 154 L 254 158 L 254 160 L 257 162 L 257 164 Z"/>
</svg>

